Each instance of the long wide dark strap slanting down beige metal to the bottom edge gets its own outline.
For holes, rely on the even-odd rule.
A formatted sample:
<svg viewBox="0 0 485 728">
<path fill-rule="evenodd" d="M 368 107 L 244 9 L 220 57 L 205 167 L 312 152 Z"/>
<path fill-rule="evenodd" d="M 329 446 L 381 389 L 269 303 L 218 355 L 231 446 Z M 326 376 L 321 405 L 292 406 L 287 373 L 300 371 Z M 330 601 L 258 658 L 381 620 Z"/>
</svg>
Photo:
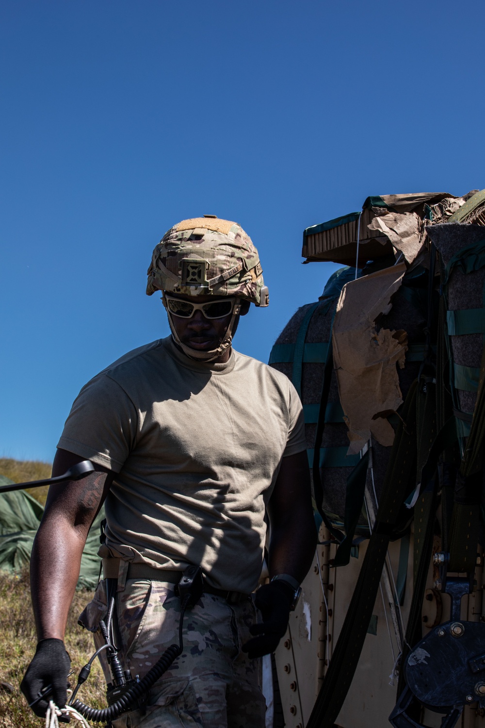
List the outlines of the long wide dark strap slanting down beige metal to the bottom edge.
<svg viewBox="0 0 485 728">
<path fill-rule="evenodd" d="M 406 396 L 385 473 L 377 521 L 367 545 L 329 669 L 306 728 L 333 728 L 348 693 L 379 590 L 382 567 L 404 497 L 416 474 L 416 382 Z"/>
</svg>

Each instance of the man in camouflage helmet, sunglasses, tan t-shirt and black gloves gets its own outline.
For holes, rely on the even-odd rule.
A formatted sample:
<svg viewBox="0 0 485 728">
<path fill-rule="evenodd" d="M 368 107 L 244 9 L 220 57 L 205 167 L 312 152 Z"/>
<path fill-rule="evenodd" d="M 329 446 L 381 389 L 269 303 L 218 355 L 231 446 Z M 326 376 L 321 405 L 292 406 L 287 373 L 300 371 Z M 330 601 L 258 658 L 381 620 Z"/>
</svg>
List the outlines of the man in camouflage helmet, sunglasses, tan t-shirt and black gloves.
<svg viewBox="0 0 485 728">
<path fill-rule="evenodd" d="M 181 572 L 196 564 L 205 577 L 183 622 L 183 654 L 145 709 L 113 726 L 261 727 L 257 658 L 284 635 L 316 547 L 302 405 L 286 376 L 231 347 L 250 303 L 268 305 L 257 250 L 237 223 L 206 215 L 172 227 L 148 269 L 146 292 L 157 290 L 172 336 L 89 381 L 57 445 L 54 474 L 83 459 L 95 472 L 49 489 L 31 560 L 39 643 L 22 689 L 30 703 L 52 684 L 65 704 L 65 624 L 104 502 L 105 579 L 80 620 L 101 644 L 106 579 L 116 578 L 117 646 L 132 676 L 177 641 Z M 271 581 L 252 598 L 266 512 Z M 35 712 L 46 708 L 41 700 Z"/>
</svg>

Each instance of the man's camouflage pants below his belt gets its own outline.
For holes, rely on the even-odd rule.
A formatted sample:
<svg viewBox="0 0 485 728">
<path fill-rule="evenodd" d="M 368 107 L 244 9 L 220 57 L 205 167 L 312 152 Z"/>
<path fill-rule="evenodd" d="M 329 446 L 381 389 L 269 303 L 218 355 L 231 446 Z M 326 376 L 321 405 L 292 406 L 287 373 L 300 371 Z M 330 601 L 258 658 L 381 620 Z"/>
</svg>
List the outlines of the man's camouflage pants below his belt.
<svg viewBox="0 0 485 728">
<path fill-rule="evenodd" d="M 178 644 L 180 600 L 167 582 L 130 579 L 117 596 L 116 612 L 126 668 L 143 678 L 169 645 Z M 95 630 L 105 614 L 100 582 L 80 617 L 95 632 L 96 646 L 103 644 Z M 229 605 L 204 594 L 185 613 L 183 654 L 151 689 L 146 710 L 124 714 L 113 728 L 264 728 L 260 660 L 241 652 L 255 616 L 252 601 Z M 103 669 L 110 680 L 107 665 Z"/>
</svg>

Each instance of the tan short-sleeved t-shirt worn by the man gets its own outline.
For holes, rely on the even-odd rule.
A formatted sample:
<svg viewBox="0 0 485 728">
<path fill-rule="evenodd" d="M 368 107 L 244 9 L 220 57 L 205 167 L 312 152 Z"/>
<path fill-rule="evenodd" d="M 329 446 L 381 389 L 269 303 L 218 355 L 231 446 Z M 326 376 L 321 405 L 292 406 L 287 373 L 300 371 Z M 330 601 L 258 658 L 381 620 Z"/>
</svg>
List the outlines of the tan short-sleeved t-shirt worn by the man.
<svg viewBox="0 0 485 728">
<path fill-rule="evenodd" d="M 252 591 L 265 505 L 283 456 L 306 449 L 284 374 L 233 352 L 192 361 L 172 338 L 122 357 L 81 389 L 57 445 L 118 475 L 105 502 L 111 555 Z"/>
</svg>

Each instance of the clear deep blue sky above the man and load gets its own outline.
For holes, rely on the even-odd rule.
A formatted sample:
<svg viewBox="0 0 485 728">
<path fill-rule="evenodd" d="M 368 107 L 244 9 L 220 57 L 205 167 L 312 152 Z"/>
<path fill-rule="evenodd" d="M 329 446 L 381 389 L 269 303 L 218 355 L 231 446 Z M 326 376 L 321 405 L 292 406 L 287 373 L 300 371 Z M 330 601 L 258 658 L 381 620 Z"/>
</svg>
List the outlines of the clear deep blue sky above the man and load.
<svg viewBox="0 0 485 728">
<path fill-rule="evenodd" d="M 485 4 L 15 0 L 0 8 L 0 456 L 52 460 L 82 384 L 167 336 L 151 251 L 210 213 L 251 235 L 268 360 L 337 266 L 302 230 L 369 194 L 485 187 Z"/>
</svg>

